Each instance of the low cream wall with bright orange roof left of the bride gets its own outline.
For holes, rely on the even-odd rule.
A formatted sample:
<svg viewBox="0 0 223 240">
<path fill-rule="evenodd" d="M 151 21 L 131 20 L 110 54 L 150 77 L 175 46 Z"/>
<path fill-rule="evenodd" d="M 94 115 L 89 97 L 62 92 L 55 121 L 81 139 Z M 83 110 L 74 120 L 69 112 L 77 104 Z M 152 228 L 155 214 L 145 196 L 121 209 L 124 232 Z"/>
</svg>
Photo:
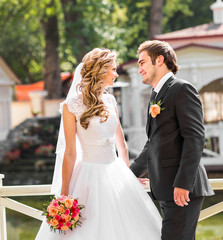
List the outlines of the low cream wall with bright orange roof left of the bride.
<svg viewBox="0 0 223 240">
<path fill-rule="evenodd" d="M 60 102 L 68 93 L 73 79 L 73 73 L 62 72 L 61 99 L 46 99 L 47 92 L 44 90 L 44 81 L 30 84 L 17 84 L 14 87 L 15 100 L 11 104 L 11 125 L 16 127 L 27 118 L 33 116 L 53 117 L 59 114 Z"/>
</svg>

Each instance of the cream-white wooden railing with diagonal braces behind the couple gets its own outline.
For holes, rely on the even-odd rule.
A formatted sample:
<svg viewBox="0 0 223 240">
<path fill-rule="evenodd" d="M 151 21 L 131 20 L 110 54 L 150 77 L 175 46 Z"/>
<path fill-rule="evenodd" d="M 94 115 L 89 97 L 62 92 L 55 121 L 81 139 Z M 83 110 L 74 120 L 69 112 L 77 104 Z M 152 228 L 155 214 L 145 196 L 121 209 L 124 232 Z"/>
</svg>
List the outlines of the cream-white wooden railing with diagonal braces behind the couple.
<svg viewBox="0 0 223 240">
<path fill-rule="evenodd" d="M 6 208 L 20 212 L 32 218 L 42 221 L 42 211 L 29 207 L 8 197 L 15 196 L 42 196 L 51 195 L 51 185 L 28 185 L 28 186 L 3 186 L 3 174 L 0 174 L 0 239 L 7 240 Z M 214 190 L 223 190 L 223 178 L 209 179 Z M 150 191 L 146 186 L 145 190 Z M 199 221 L 209 218 L 223 211 L 223 201 L 209 208 L 203 209 Z"/>
</svg>

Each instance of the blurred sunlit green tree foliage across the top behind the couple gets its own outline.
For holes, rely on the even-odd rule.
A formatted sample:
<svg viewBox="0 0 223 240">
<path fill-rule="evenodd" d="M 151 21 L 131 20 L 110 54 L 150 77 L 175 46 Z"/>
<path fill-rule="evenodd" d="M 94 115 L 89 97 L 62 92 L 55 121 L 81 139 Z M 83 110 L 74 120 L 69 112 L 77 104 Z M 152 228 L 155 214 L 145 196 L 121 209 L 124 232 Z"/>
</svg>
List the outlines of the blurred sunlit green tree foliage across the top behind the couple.
<svg viewBox="0 0 223 240">
<path fill-rule="evenodd" d="M 212 21 L 213 0 L 166 0 L 163 32 Z M 61 71 L 72 72 L 94 47 L 115 49 L 120 61 L 136 57 L 139 44 L 149 39 L 151 0 L 1 0 L 0 54 L 25 82 L 42 79 L 45 40 L 42 21 L 55 15 L 59 22 Z M 67 14 L 73 18 L 67 21 Z M 199 17 L 198 17 L 199 16 Z"/>
</svg>

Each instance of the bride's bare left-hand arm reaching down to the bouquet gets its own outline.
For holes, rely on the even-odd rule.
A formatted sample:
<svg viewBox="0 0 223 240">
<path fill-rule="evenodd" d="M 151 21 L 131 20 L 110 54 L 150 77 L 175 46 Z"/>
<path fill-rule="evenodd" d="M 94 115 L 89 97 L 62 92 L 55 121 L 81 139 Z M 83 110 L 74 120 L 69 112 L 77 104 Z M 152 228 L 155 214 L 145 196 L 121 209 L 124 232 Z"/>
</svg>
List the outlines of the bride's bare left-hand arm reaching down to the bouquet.
<svg viewBox="0 0 223 240">
<path fill-rule="evenodd" d="M 62 166 L 61 195 L 67 196 L 71 175 L 76 161 L 76 117 L 69 112 L 66 104 L 64 104 L 63 107 L 63 125 L 66 149 Z"/>
</svg>

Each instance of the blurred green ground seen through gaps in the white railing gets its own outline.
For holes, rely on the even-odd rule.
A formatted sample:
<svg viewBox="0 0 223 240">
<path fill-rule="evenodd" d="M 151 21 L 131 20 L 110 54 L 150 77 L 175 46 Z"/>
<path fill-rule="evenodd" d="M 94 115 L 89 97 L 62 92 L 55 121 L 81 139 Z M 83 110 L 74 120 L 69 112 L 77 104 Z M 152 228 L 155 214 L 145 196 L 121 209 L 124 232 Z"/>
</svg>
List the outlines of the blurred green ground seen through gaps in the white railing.
<svg viewBox="0 0 223 240">
<path fill-rule="evenodd" d="M 16 197 L 16 201 L 42 210 L 43 204 L 50 201 L 50 196 Z M 204 208 L 222 201 L 223 191 L 214 197 L 206 198 Z M 41 222 L 18 212 L 7 209 L 8 240 L 34 240 Z M 223 240 L 223 213 L 198 223 L 196 240 Z"/>
</svg>

